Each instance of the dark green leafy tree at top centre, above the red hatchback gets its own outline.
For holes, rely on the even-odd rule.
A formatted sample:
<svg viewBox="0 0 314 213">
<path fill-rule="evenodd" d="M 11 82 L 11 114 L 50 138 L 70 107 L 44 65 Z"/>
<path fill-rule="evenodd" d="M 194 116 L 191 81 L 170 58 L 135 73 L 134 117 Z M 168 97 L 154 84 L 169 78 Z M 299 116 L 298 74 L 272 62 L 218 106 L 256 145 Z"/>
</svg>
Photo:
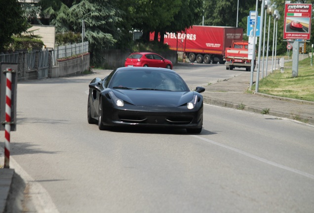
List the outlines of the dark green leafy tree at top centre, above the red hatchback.
<svg viewBox="0 0 314 213">
<path fill-rule="evenodd" d="M 143 40 L 149 41 L 151 32 L 178 32 L 195 24 L 201 16 L 202 2 L 203 0 L 120 0 L 120 5 L 125 12 L 124 17 L 127 17 L 124 21 L 129 23 L 129 29 L 142 31 Z"/>
</svg>

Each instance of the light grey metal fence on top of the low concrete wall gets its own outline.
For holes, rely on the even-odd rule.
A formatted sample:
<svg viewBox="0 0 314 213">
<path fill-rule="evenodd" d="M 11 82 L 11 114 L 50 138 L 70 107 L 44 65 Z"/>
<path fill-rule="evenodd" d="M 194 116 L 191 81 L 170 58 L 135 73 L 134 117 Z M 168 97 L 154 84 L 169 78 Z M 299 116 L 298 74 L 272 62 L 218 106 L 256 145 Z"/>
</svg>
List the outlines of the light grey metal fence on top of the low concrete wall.
<svg viewBox="0 0 314 213">
<path fill-rule="evenodd" d="M 52 65 L 57 64 L 57 59 L 66 58 L 88 52 L 88 41 L 82 43 L 57 46 L 52 51 Z"/>
</svg>

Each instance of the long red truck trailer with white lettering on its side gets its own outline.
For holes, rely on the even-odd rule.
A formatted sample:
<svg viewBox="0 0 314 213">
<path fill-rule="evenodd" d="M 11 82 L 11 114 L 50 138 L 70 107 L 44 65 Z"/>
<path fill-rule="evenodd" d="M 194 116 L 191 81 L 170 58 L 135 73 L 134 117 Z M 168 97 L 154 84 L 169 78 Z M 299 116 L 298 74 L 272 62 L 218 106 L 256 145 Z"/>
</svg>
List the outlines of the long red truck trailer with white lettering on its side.
<svg viewBox="0 0 314 213">
<path fill-rule="evenodd" d="M 242 28 L 194 25 L 185 32 L 166 33 L 164 43 L 171 50 L 184 52 L 190 62 L 224 64 L 225 49 L 231 47 L 233 40 L 242 40 L 242 37 Z M 154 40 L 154 33 L 150 40 Z"/>
</svg>

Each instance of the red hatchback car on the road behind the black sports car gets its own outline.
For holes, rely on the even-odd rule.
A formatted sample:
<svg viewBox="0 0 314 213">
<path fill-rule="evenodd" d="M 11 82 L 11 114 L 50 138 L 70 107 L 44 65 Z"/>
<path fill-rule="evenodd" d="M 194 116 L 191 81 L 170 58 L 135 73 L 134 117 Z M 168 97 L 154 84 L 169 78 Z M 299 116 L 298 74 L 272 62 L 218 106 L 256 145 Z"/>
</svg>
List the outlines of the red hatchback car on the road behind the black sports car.
<svg viewBox="0 0 314 213">
<path fill-rule="evenodd" d="M 125 59 L 125 67 L 157 67 L 172 70 L 172 62 L 156 53 L 136 52 Z"/>
</svg>

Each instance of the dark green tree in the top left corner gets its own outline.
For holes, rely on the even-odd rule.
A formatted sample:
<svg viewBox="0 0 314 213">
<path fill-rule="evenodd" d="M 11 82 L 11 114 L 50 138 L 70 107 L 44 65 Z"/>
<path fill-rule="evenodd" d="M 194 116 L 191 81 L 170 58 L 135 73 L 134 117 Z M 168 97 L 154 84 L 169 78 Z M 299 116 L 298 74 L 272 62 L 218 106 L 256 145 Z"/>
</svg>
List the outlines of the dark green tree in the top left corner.
<svg viewBox="0 0 314 213">
<path fill-rule="evenodd" d="M 20 3 L 17 0 L 0 0 L 0 50 L 12 42 L 11 36 L 22 34 L 27 28 Z"/>
</svg>

